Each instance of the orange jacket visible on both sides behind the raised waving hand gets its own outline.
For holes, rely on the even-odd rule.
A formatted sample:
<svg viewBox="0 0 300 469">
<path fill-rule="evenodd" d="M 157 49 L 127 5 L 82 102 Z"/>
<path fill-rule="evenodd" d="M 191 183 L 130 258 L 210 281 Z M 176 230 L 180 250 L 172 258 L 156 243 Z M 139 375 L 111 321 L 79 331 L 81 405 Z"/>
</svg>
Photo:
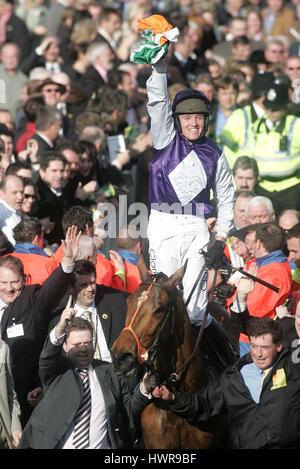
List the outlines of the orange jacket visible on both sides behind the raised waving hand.
<svg viewBox="0 0 300 469">
<path fill-rule="evenodd" d="M 64 257 L 64 251 L 62 245 L 60 245 L 53 255 L 53 258 L 61 264 Z M 107 287 L 113 287 L 118 290 L 124 290 L 124 283 L 120 277 L 114 275 L 113 267 L 108 259 L 103 255 L 97 254 L 96 262 L 96 283 L 99 285 L 105 285 Z"/>
</svg>

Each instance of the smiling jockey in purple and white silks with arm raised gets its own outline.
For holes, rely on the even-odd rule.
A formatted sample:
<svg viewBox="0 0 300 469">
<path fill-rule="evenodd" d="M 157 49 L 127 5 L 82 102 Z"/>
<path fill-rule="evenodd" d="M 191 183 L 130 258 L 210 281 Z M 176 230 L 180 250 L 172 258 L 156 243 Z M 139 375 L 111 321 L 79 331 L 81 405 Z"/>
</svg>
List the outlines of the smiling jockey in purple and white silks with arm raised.
<svg viewBox="0 0 300 469">
<path fill-rule="evenodd" d="M 146 18 L 149 28 L 157 16 Z M 164 20 L 161 16 L 159 19 Z M 211 109 L 204 93 L 185 89 L 176 94 L 171 106 L 165 59 L 153 65 L 147 92 L 154 146 L 149 179 L 150 269 L 170 276 L 188 261 L 182 286 L 184 300 L 192 292 L 187 304 L 191 324 L 199 329 L 205 318 L 203 341 L 211 350 L 219 350 L 222 366 L 226 366 L 235 357 L 222 329 L 206 313 L 207 270 L 221 267 L 225 240 L 233 227 L 231 172 L 225 155 L 205 136 Z M 212 212 L 211 191 L 218 220 L 215 242 L 208 248 L 210 233 L 206 218 Z M 206 258 L 203 251 L 207 251 Z M 203 267 L 205 262 L 207 269 Z M 201 271 L 204 275 L 195 285 Z"/>
</svg>

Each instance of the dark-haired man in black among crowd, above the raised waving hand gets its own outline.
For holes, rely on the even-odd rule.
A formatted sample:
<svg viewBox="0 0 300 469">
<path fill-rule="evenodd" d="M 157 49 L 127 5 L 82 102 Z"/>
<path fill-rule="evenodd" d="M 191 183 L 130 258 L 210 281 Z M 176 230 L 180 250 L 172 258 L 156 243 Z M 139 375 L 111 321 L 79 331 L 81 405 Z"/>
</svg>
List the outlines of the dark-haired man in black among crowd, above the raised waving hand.
<svg viewBox="0 0 300 469">
<path fill-rule="evenodd" d="M 66 198 L 62 191 L 65 182 L 66 160 L 56 151 L 44 152 L 40 159 L 39 179 L 36 187 L 39 194 L 36 216 L 42 220 L 49 218 L 55 223 L 50 233 L 44 234 L 49 245 L 60 244 L 64 237 L 61 219 L 66 209 Z"/>
</svg>

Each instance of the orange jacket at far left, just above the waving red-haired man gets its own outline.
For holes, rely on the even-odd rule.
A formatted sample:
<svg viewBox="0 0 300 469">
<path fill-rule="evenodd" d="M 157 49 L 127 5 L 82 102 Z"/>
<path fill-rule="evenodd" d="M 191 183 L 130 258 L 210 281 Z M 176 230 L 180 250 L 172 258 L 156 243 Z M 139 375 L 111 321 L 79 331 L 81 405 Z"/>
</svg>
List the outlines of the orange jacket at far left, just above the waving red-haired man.
<svg viewBox="0 0 300 469">
<path fill-rule="evenodd" d="M 9 255 L 22 261 L 26 276 L 25 285 L 42 285 L 53 270 L 59 266 L 59 263 L 53 257 L 44 257 L 40 254 L 12 252 Z"/>
</svg>

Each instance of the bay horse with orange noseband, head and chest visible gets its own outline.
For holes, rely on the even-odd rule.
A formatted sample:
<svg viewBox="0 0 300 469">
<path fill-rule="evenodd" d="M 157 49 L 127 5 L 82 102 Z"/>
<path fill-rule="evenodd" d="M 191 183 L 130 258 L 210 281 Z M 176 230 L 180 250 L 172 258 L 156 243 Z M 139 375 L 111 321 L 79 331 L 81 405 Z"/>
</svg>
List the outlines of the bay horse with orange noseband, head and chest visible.
<svg viewBox="0 0 300 469">
<path fill-rule="evenodd" d="M 132 378 L 146 366 L 160 384 L 195 392 L 209 378 L 201 353 L 189 360 L 196 337 L 177 288 L 185 266 L 169 278 L 164 274 L 151 276 L 143 260 L 139 260 L 139 268 L 142 283 L 127 299 L 125 327 L 112 347 L 114 369 Z M 147 449 L 209 449 L 229 444 L 226 417 L 212 419 L 199 429 L 158 399 L 144 409 L 141 430 Z"/>
</svg>

